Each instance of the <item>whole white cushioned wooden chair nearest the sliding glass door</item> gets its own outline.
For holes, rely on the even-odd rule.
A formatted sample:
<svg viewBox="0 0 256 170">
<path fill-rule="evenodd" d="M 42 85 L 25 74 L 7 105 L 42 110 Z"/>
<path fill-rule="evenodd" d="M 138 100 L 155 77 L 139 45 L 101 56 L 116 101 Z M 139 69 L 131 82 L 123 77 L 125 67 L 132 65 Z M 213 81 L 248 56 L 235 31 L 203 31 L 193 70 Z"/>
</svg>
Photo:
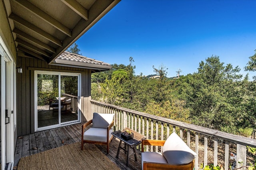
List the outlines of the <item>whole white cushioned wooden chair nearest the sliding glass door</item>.
<svg viewBox="0 0 256 170">
<path fill-rule="evenodd" d="M 92 127 L 84 131 L 84 129 L 92 124 Z M 112 126 L 114 125 L 114 114 L 93 113 L 92 120 L 82 125 L 82 141 L 81 150 L 84 149 L 84 143 L 93 143 L 97 145 L 106 145 L 107 153 L 109 152 L 109 143 L 113 138 Z"/>
</svg>

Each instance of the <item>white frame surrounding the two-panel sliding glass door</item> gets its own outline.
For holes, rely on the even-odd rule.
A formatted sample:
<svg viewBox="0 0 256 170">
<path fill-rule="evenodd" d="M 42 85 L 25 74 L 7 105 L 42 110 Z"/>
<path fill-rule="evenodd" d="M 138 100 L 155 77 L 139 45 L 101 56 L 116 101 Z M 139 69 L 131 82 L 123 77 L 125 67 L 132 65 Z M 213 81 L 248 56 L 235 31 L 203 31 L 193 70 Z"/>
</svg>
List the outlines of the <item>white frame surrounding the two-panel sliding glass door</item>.
<svg viewBox="0 0 256 170">
<path fill-rule="evenodd" d="M 72 125 L 75 123 L 81 123 L 81 111 L 80 109 L 78 109 L 78 120 L 77 121 L 69 121 L 68 123 L 61 123 L 60 120 L 60 113 L 59 113 L 59 123 L 56 125 L 50 125 L 50 126 L 46 126 L 46 127 L 38 127 L 38 113 L 37 113 L 37 103 L 38 103 L 38 94 L 37 94 L 37 75 L 38 74 L 53 74 L 53 75 L 59 75 L 59 80 L 60 80 L 60 76 L 78 76 L 78 96 L 81 96 L 81 73 L 74 73 L 74 72 L 56 72 L 56 71 L 41 71 L 41 70 L 35 70 L 34 71 L 34 113 L 35 113 L 35 119 L 34 119 L 34 123 L 35 123 L 35 131 L 44 131 L 47 129 L 52 129 L 52 128 L 56 128 L 56 127 L 62 127 L 62 126 L 66 126 L 66 125 Z M 59 87 L 59 93 L 60 93 L 60 81 L 58 84 Z"/>
</svg>

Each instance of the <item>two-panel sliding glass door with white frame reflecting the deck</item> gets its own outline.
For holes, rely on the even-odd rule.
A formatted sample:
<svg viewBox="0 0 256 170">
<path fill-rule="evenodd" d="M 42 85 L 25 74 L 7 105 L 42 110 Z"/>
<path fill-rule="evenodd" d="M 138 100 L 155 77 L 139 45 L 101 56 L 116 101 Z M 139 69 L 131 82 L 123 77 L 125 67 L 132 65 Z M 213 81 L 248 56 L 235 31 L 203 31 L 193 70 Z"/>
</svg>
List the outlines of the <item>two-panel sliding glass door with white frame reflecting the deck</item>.
<svg viewBox="0 0 256 170">
<path fill-rule="evenodd" d="M 35 72 L 36 131 L 80 121 L 80 74 Z"/>
</svg>

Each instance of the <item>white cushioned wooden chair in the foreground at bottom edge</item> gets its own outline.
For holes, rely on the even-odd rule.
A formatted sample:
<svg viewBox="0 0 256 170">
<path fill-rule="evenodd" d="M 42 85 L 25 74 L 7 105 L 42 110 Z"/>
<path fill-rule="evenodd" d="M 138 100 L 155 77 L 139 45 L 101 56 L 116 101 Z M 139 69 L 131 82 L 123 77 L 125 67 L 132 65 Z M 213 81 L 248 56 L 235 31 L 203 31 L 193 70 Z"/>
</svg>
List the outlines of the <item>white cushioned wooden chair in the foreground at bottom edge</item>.
<svg viewBox="0 0 256 170">
<path fill-rule="evenodd" d="M 162 152 L 144 152 L 144 145 L 162 146 Z M 142 139 L 142 170 L 193 170 L 196 156 L 176 133 L 166 141 Z"/>
</svg>

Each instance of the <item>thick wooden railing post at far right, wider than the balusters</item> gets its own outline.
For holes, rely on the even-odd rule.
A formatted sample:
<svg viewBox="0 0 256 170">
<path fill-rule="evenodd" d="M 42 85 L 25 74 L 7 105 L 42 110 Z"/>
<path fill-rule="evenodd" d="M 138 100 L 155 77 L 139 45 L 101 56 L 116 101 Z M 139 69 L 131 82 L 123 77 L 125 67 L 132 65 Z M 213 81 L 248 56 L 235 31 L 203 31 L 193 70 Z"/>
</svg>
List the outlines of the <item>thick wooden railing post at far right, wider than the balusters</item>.
<svg viewBox="0 0 256 170">
<path fill-rule="evenodd" d="M 236 150 L 237 150 L 236 169 L 240 168 L 240 170 L 245 170 L 246 169 L 246 146 L 236 144 Z"/>
</svg>

